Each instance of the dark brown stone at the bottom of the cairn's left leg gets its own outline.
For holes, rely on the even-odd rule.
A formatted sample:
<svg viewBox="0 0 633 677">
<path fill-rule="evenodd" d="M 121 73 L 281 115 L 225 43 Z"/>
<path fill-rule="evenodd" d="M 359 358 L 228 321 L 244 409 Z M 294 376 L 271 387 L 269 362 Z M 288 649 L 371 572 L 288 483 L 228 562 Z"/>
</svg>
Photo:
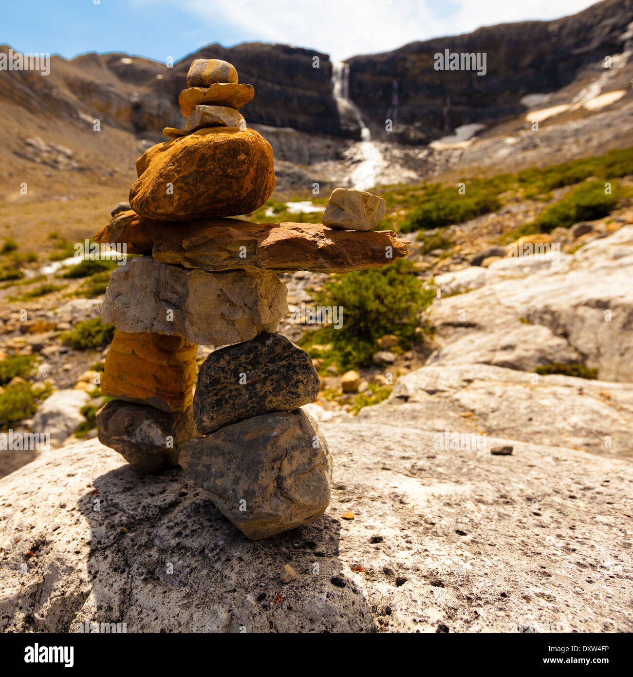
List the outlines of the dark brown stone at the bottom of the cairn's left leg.
<svg viewBox="0 0 633 677">
<path fill-rule="evenodd" d="M 121 399 L 97 412 L 97 430 L 99 441 L 121 454 L 139 475 L 177 466 L 182 445 L 198 437 L 191 407 L 169 413 Z"/>
</svg>

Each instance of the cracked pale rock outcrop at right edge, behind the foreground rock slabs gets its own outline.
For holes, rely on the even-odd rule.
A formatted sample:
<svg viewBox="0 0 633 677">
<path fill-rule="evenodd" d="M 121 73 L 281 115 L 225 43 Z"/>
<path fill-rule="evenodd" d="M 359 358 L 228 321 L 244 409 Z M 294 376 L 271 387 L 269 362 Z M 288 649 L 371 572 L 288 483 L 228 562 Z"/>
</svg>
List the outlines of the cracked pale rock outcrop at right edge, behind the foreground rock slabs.
<svg viewBox="0 0 633 677">
<path fill-rule="evenodd" d="M 603 380 L 632 381 L 632 275 L 633 225 L 558 263 L 513 257 L 443 274 L 445 292 L 478 288 L 433 303 L 441 347 L 430 361 L 522 370 L 581 362 Z"/>
</svg>

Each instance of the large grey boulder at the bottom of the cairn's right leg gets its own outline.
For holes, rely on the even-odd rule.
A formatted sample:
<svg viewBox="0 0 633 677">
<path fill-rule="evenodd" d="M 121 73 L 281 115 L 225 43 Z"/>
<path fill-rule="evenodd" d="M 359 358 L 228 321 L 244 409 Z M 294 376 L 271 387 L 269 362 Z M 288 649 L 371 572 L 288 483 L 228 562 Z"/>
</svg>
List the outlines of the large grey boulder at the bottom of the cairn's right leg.
<svg viewBox="0 0 633 677">
<path fill-rule="evenodd" d="M 180 464 L 250 540 L 311 522 L 330 503 L 332 457 L 316 421 L 301 409 L 192 439 Z"/>
</svg>

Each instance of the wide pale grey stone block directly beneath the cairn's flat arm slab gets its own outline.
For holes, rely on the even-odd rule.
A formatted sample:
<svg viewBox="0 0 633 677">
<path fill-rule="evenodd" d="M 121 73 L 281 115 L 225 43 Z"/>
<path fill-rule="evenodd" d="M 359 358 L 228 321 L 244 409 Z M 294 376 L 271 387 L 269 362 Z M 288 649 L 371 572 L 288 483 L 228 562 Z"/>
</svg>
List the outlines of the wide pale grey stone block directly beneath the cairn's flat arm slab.
<svg viewBox="0 0 633 677">
<path fill-rule="evenodd" d="M 286 294 L 270 271 L 212 273 L 144 256 L 114 270 L 100 313 L 124 332 L 228 345 L 274 332 L 288 310 Z"/>
</svg>

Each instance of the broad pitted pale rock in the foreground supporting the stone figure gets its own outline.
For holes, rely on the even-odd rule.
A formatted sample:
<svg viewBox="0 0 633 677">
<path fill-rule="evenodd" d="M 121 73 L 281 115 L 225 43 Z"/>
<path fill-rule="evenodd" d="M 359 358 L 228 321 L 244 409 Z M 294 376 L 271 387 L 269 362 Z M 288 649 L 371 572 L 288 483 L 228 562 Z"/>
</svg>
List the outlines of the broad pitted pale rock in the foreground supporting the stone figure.
<svg viewBox="0 0 633 677">
<path fill-rule="evenodd" d="M 437 450 L 423 419 L 403 427 L 389 408 L 321 429 L 329 508 L 263 541 L 181 471 L 139 478 L 97 441 L 5 477 L 0 630 L 633 630 L 630 462 L 508 437 L 488 443 L 512 456 Z M 286 564 L 298 577 L 284 586 Z"/>
</svg>

